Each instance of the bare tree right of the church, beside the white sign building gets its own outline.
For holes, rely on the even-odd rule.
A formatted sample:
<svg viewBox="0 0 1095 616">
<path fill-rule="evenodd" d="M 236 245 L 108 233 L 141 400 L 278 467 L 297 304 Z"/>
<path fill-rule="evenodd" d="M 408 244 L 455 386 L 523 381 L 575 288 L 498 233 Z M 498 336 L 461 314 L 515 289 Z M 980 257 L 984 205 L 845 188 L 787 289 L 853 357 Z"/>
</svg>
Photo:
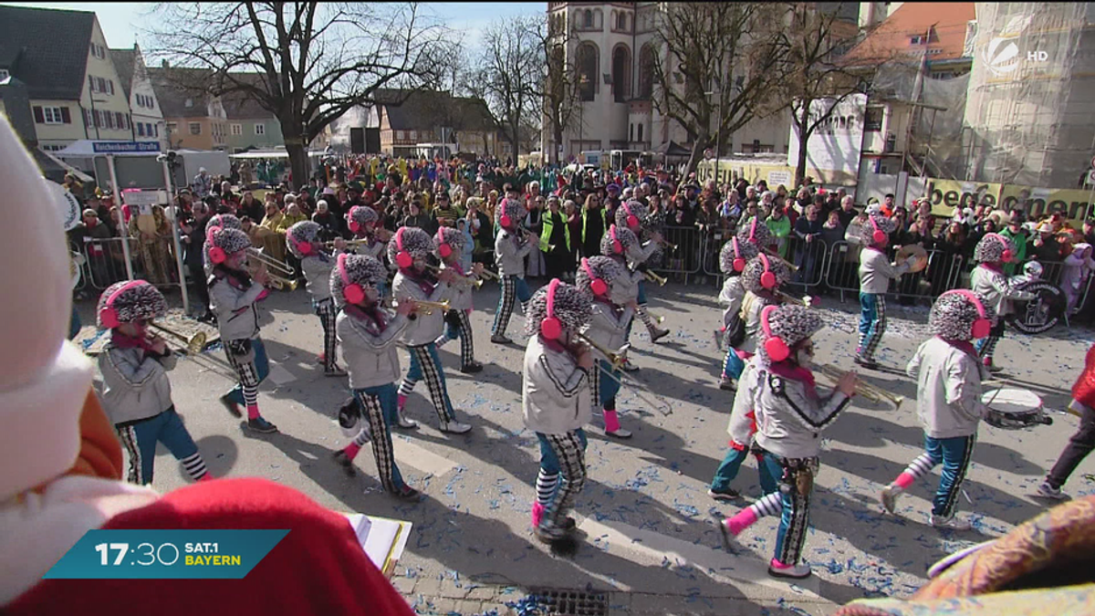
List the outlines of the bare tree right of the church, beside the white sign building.
<svg viewBox="0 0 1095 616">
<path fill-rule="evenodd" d="M 865 70 L 862 61 L 853 70 L 840 59 L 856 41 L 856 24 L 840 18 L 840 3 L 827 4 L 784 4 L 787 53 L 779 92 L 791 107 L 792 127 L 798 140 L 795 185 L 806 179 L 806 145 L 810 136 L 830 122 L 844 100 L 866 93 L 869 85 L 872 71 Z"/>
</svg>

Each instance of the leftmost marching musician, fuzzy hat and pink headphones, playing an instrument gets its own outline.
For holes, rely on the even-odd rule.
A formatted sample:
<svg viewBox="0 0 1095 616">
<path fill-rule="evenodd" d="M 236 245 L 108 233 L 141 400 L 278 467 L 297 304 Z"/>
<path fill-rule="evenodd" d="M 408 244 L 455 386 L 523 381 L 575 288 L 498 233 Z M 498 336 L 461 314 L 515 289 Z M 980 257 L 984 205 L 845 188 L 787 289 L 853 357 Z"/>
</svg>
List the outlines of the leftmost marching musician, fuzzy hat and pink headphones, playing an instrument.
<svg viewBox="0 0 1095 616">
<path fill-rule="evenodd" d="M 175 355 L 148 323 L 168 312 L 163 294 L 146 281 L 122 281 L 99 298 L 99 327 L 111 341 L 99 355 L 103 410 L 129 452 L 130 483 L 152 482 L 155 445 L 163 443 L 195 481 L 212 479 L 194 438 L 171 401 L 168 370 Z"/>
</svg>

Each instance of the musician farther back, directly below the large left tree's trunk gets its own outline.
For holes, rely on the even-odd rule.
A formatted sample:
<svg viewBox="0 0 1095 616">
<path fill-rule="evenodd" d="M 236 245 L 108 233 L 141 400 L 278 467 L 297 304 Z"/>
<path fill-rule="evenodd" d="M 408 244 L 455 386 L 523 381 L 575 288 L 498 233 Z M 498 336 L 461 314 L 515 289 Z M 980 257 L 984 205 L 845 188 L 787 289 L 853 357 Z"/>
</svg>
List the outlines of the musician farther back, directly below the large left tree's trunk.
<svg viewBox="0 0 1095 616">
<path fill-rule="evenodd" d="M 300 269 L 308 280 L 308 294 L 312 296 L 312 310 L 323 326 L 323 353 L 318 357 L 323 364 L 324 376 L 346 376 L 346 372 L 336 362 L 337 339 L 335 338 L 335 309 L 331 299 L 331 270 L 335 259 L 346 242 L 342 238 L 334 240 L 335 254 L 323 250 L 320 233 L 323 227 L 319 223 L 301 220 L 289 227 L 285 233 L 285 243 L 289 252 L 300 260 Z"/>
</svg>

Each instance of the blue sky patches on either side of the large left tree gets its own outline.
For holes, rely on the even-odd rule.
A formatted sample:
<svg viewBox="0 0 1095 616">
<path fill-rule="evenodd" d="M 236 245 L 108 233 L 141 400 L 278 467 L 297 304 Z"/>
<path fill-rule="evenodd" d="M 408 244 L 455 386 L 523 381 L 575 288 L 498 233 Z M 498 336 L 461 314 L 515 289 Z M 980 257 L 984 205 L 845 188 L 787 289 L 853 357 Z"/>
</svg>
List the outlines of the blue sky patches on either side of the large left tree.
<svg viewBox="0 0 1095 616">
<path fill-rule="evenodd" d="M 68 9 L 94 11 L 106 36 L 106 44 L 114 48 L 132 47 L 137 41 L 135 24 L 141 22 L 154 2 L 2 2 L 45 9 Z M 433 11 L 452 30 L 465 30 L 465 44 L 470 49 L 477 46 L 480 33 L 493 20 L 509 15 L 540 13 L 548 10 L 546 2 L 424 2 L 427 11 Z M 145 46 L 145 41 L 140 41 Z"/>
</svg>

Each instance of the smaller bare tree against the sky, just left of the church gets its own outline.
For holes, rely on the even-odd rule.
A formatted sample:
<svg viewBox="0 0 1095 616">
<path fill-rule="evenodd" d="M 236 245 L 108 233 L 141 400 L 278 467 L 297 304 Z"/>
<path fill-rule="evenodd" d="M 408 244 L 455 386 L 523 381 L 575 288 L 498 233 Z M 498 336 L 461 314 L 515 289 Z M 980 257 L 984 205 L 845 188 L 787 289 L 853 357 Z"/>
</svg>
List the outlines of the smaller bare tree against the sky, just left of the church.
<svg viewBox="0 0 1095 616">
<path fill-rule="evenodd" d="M 472 78 L 472 90 L 491 109 L 514 159 L 521 150 L 522 127 L 538 121 L 541 15 L 515 15 L 493 22 L 483 33 L 483 52 Z"/>
</svg>

